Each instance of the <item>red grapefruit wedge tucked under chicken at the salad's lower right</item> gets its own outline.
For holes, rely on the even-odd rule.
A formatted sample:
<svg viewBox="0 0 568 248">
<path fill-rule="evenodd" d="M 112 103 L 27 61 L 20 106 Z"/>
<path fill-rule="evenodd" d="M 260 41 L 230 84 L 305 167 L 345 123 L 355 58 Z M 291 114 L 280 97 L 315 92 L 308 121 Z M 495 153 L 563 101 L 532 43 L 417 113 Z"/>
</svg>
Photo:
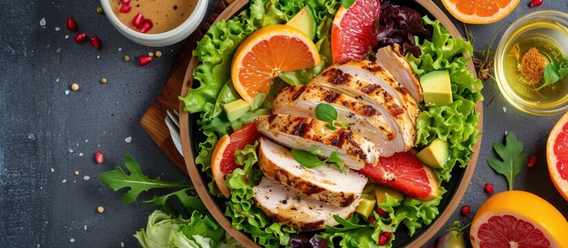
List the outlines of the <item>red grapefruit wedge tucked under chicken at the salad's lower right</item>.
<svg viewBox="0 0 568 248">
<path fill-rule="evenodd" d="M 434 172 L 412 152 L 397 152 L 387 158 L 381 157 L 376 165 L 366 164 L 359 172 L 375 183 L 397 189 L 406 196 L 422 200 L 438 197 L 438 182 Z"/>
</svg>

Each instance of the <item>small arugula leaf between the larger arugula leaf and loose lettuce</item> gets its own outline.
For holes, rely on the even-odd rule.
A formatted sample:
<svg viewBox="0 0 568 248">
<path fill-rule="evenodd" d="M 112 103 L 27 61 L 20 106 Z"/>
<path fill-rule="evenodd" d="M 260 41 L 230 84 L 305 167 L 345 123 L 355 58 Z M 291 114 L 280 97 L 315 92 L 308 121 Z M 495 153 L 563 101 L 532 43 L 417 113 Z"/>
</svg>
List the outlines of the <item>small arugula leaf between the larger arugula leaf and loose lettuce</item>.
<svg viewBox="0 0 568 248">
<path fill-rule="evenodd" d="M 173 211 L 168 205 L 168 200 L 172 196 L 177 196 L 179 202 L 181 203 L 181 205 L 183 205 L 183 207 L 185 207 L 185 209 L 189 209 L 190 211 L 207 211 L 207 208 L 205 207 L 205 205 L 203 205 L 203 202 L 201 201 L 201 199 L 199 199 L 199 196 L 190 196 L 189 194 L 187 194 L 188 190 L 194 189 L 195 188 L 192 186 L 164 196 L 154 196 L 152 200 L 144 200 L 144 203 L 152 203 L 152 205 L 154 205 L 154 207 L 156 207 L 157 209 L 160 209 L 160 211 L 163 211 L 167 214 L 172 214 Z"/>
</svg>

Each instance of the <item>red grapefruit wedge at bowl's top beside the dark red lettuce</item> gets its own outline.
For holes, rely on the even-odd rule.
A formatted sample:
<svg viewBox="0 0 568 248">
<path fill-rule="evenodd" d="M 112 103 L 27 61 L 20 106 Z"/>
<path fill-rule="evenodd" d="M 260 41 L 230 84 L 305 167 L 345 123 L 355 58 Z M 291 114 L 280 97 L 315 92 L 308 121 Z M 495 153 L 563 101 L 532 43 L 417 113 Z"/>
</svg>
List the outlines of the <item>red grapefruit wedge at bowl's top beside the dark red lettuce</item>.
<svg viewBox="0 0 568 248">
<path fill-rule="evenodd" d="M 373 23 L 380 10 L 378 0 L 356 0 L 349 8 L 339 7 L 332 27 L 334 63 L 367 56 L 378 43 L 373 35 Z"/>
</svg>

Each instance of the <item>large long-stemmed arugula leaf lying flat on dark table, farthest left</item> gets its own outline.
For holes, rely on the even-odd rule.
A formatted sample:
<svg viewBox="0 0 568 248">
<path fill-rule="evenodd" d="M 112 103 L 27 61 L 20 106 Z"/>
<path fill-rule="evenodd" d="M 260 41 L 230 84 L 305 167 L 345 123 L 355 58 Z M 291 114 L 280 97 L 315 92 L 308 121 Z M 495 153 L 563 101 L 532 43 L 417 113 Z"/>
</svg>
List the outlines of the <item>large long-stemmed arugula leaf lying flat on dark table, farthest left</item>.
<svg viewBox="0 0 568 248">
<path fill-rule="evenodd" d="M 186 182 L 168 183 L 161 181 L 159 177 L 150 179 L 148 176 L 144 176 L 138 163 L 128 154 L 124 155 L 124 165 L 130 171 L 130 175 L 125 174 L 122 168 L 118 166 L 114 171 L 104 172 L 99 175 L 99 180 L 114 189 L 115 192 L 125 187 L 130 188 L 122 198 L 124 205 L 134 203 L 140 193 L 148 191 L 149 189 L 192 187 L 190 183 Z"/>
</svg>

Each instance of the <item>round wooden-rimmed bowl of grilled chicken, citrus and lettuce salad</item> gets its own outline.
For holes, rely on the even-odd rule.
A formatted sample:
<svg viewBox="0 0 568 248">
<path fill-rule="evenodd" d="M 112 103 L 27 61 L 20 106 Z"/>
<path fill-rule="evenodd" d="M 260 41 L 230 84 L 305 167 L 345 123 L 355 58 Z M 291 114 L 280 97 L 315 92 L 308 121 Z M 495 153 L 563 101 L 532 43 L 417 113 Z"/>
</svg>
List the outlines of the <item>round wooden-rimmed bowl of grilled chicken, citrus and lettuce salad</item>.
<svg viewBox="0 0 568 248">
<path fill-rule="evenodd" d="M 185 161 L 245 247 L 418 246 L 456 209 L 483 85 L 471 44 L 417 2 L 236 1 L 198 42 Z"/>
</svg>

